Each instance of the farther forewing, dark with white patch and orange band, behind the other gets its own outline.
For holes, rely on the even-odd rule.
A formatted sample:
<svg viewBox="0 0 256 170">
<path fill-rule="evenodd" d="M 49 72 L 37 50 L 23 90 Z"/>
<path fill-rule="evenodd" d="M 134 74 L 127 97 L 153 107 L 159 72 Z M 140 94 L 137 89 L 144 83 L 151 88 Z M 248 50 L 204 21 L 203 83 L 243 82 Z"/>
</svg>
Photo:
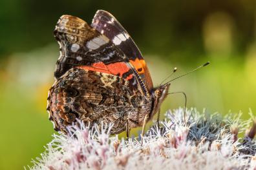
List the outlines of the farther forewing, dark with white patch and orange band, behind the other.
<svg viewBox="0 0 256 170">
<path fill-rule="evenodd" d="M 142 54 L 129 33 L 127 33 L 117 19 L 109 12 L 98 10 L 94 15 L 91 25 L 122 50 L 125 56 L 128 57 L 134 70 L 140 76 L 140 79 L 144 81 L 147 90 L 151 90 L 153 88 L 153 82 Z"/>
</svg>

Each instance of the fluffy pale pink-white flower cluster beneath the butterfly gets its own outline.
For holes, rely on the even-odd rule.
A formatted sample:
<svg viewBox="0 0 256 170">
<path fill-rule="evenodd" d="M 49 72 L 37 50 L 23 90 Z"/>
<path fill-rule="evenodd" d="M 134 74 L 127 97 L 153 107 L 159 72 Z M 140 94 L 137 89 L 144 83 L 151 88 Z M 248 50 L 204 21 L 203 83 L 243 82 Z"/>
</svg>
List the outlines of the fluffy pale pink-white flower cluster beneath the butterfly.
<svg viewBox="0 0 256 170">
<path fill-rule="evenodd" d="M 255 120 L 240 114 L 222 118 L 175 109 L 161 126 L 143 138 L 121 140 L 109 135 L 111 126 L 70 126 L 69 135 L 53 135 L 41 158 L 29 169 L 256 169 Z M 239 133 L 246 131 L 244 138 Z M 140 135 L 139 135 L 140 136 Z"/>
</svg>

